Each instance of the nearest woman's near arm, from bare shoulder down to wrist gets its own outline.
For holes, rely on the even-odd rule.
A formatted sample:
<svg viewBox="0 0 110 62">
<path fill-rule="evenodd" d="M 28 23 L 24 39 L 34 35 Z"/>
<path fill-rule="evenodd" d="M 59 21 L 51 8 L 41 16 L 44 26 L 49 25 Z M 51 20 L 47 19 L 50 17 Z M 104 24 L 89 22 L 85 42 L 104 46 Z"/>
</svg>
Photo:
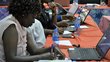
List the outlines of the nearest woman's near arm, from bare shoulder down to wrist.
<svg viewBox="0 0 110 62">
<path fill-rule="evenodd" d="M 44 53 L 41 55 L 34 56 L 17 56 L 18 33 L 15 28 L 15 25 L 10 25 L 4 31 L 2 39 L 6 62 L 27 62 L 39 59 L 52 59 L 50 58 L 52 57 L 50 53 Z"/>
</svg>

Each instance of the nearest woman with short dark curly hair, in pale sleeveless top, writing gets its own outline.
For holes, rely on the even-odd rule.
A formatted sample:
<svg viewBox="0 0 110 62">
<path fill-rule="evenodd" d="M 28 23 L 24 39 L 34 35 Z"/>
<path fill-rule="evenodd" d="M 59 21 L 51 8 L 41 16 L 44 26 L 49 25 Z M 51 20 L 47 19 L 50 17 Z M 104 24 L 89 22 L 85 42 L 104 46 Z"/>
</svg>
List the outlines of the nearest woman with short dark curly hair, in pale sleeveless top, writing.
<svg viewBox="0 0 110 62">
<path fill-rule="evenodd" d="M 0 21 L 0 61 L 33 62 L 54 59 L 56 53 L 51 53 L 51 47 L 37 48 L 30 33 L 26 31 L 34 23 L 35 14 L 39 13 L 38 3 L 32 0 L 11 0 L 8 9 L 9 15 Z M 58 49 L 52 49 L 59 53 Z"/>
</svg>

